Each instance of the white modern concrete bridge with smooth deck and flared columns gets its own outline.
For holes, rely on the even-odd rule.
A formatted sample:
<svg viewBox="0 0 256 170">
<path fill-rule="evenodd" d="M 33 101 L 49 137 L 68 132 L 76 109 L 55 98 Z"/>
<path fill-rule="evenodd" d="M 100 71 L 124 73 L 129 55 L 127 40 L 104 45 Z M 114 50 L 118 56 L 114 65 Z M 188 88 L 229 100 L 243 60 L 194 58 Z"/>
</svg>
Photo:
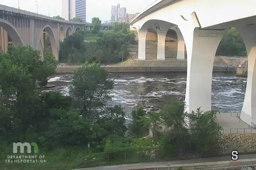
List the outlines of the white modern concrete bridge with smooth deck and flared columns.
<svg viewBox="0 0 256 170">
<path fill-rule="evenodd" d="M 231 27 L 241 34 L 248 55 L 248 80 L 240 118 L 256 124 L 256 1 L 156 0 L 130 23 L 138 32 L 138 59 L 145 60 L 149 30 L 158 37 L 158 60 L 165 60 L 165 36 L 175 30 L 177 58 L 187 52 L 187 111 L 211 110 L 213 61 L 219 42 Z"/>
</svg>

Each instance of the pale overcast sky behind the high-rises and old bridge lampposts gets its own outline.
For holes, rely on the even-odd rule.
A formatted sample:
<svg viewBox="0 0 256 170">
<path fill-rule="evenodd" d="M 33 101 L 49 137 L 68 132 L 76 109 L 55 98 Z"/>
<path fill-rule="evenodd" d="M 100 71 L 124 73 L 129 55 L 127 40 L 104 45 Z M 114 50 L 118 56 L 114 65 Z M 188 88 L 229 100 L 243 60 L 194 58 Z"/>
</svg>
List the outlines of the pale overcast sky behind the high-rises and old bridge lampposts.
<svg viewBox="0 0 256 170">
<path fill-rule="evenodd" d="M 38 13 L 42 15 L 62 16 L 62 0 L 37 0 Z M 130 14 L 141 12 L 155 0 L 86 0 L 86 21 L 99 17 L 101 21 L 111 19 L 111 6 L 120 4 Z M 18 0 L 0 0 L 0 4 L 18 8 Z M 37 12 L 36 0 L 20 0 L 20 9 Z"/>
</svg>

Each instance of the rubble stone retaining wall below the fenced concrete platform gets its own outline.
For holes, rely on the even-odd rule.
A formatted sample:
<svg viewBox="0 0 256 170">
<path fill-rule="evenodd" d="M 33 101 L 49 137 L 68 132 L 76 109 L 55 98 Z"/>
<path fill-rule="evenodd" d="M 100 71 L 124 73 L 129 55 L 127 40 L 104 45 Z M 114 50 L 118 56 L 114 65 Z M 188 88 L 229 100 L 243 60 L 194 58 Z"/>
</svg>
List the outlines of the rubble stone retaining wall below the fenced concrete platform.
<svg viewBox="0 0 256 170">
<path fill-rule="evenodd" d="M 239 154 L 256 152 L 256 134 L 223 134 L 220 139 L 219 154 L 231 154 L 237 150 Z"/>
</svg>

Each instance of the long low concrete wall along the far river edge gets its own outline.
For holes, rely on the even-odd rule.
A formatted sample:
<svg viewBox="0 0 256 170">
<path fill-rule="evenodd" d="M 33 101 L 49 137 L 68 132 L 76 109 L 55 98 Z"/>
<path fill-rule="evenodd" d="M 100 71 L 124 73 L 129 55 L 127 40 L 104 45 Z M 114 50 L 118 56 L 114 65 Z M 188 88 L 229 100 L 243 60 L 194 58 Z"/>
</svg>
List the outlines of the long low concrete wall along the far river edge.
<svg viewBox="0 0 256 170">
<path fill-rule="evenodd" d="M 56 68 L 57 73 L 73 73 L 76 70 L 74 67 L 58 67 Z M 135 67 L 105 67 L 105 69 L 110 73 L 122 73 L 122 72 L 187 72 L 186 66 L 135 66 Z M 213 67 L 214 72 L 235 72 L 235 67 Z"/>
</svg>

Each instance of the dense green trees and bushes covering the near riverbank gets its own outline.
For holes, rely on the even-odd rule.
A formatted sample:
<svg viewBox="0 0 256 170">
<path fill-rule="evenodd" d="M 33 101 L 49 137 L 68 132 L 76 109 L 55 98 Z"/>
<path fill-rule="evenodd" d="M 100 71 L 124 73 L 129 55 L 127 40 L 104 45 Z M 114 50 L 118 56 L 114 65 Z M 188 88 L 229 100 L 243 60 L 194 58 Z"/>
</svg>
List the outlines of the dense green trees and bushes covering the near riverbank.
<svg viewBox="0 0 256 170">
<path fill-rule="evenodd" d="M 114 83 L 98 63 L 84 63 L 74 72 L 69 96 L 41 92 L 37 87 L 47 84 L 56 61 L 50 52 L 44 61 L 39 59 L 40 52 L 28 46 L 10 46 L 0 54 L 0 159 L 13 154 L 12 142 L 36 142 L 47 163 L 1 162 L 0 169 L 71 169 L 170 160 L 187 153 L 206 155 L 218 143 L 217 113 L 199 108 L 187 114 L 182 101 L 172 101 L 160 113 L 137 108 L 127 126 L 124 109 L 107 105 Z"/>
</svg>

